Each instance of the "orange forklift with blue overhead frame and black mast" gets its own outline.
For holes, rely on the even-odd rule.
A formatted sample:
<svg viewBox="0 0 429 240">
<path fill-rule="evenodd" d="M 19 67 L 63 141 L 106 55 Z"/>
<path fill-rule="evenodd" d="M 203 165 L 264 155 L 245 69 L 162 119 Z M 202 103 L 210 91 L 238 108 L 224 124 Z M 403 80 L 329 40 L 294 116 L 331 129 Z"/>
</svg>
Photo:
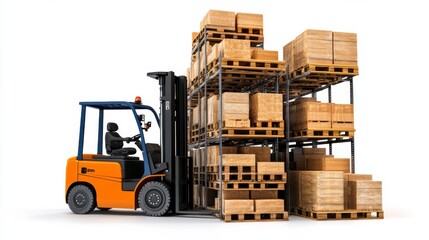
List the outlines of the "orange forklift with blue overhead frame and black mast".
<svg viewBox="0 0 429 240">
<path fill-rule="evenodd" d="M 159 81 L 160 117 L 143 105 L 140 97 L 134 102 L 80 102 L 81 118 L 77 156 L 67 161 L 65 200 L 76 214 L 87 214 L 95 208 L 138 209 L 149 216 L 165 214 L 212 215 L 214 211 L 193 209 L 192 158 L 187 151 L 186 77 L 174 72 L 152 72 Z M 84 154 L 87 108 L 98 110 L 98 144 L 96 154 Z M 114 122 L 106 124 L 104 112 L 131 111 L 138 132 L 123 138 Z M 144 132 L 151 127 L 139 111 L 149 111 L 160 127 L 160 145 L 146 143 Z M 104 133 L 104 144 L 103 144 Z M 142 158 L 130 156 L 135 148 L 123 147 L 134 142 Z M 103 155 L 103 145 L 107 155 Z"/>
</svg>

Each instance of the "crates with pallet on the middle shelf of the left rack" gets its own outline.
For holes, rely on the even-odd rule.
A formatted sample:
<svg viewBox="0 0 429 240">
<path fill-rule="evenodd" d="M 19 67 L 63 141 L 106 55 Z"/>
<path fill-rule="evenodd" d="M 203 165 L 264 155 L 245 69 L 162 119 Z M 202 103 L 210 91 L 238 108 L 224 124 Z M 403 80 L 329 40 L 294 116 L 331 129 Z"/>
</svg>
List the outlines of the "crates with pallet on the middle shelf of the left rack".
<svg viewBox="0 0 429 240">
<path fill-rule="evenodd" d="M 207 100 L 203 97 L 200 105 L 191 110 L 191 142 L 219 136 L 229 139 L 283 138 L 283 96 L 273 93 L 225 92 L 219 114 L 219 96 L 213 95 Z M 207 120 L 206 119 L 207 114 Z M 207 128 L 206 128 L 207 123 Z"/>
</svg>

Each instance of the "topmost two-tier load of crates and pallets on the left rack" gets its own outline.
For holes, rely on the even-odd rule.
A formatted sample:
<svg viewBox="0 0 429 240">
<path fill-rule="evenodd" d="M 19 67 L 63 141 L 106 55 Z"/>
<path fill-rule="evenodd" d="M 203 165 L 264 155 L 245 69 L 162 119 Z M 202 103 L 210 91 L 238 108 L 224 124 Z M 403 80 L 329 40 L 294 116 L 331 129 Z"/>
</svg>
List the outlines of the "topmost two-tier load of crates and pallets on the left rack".
<svg viewBox="0 0 429 240">
<path fill-rule="evenodd" d="M 222 67 L 223 89 L 240 91 L 258 77 L 284 72 L 277 51 L 262 49 L 263 15 L 210 10 L 201 21 L 200 32 L 192 34 L 191 66 L 187 71 L 188 92 Z M 207 83 L 216 92 L 217 81 Z"/>
</svg>

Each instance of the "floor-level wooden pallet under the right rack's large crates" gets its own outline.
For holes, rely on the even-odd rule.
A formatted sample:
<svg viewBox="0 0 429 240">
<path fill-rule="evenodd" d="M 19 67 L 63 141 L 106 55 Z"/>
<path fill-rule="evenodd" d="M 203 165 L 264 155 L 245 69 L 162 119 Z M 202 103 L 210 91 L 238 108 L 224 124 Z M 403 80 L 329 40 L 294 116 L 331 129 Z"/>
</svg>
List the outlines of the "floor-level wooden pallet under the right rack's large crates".
<svg viewBox="0 0 429 240">
<path fill-rule="evenodd" d="M 312 211 L 292 208 L 292 214 L 314 220 L 383 219 L 383 210 Z"/>
</svg>

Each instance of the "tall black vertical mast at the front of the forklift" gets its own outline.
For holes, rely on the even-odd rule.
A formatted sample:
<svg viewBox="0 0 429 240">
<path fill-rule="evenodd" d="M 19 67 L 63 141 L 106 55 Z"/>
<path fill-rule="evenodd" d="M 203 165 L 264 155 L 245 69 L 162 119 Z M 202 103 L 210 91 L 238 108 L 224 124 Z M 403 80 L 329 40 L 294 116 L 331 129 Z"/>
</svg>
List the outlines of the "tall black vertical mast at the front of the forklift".
<svg viewBox="0 0 429 240">
<path fill-rule="evenodd" d="M 167 163 L 164 181 L 172 189 L 174 213 L 185 213 L 193 207 L 192 158 L 187 150 L 186 77 L 174 72 L 151 72 L 159 81 L 161 162 Z"/>
</svg>

